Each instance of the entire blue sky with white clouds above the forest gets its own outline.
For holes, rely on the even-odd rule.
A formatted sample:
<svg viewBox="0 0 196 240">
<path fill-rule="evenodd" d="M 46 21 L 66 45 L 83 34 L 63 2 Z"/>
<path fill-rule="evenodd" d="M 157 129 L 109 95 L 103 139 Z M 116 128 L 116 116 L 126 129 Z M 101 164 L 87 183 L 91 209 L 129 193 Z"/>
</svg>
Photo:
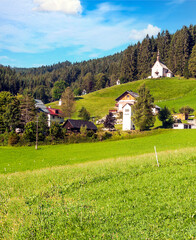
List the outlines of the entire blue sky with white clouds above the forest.
<svg viewBox="0 0 196 240">
<path fill-rule="evenodd" d="M 0 64 L 95 59 L 190 24 L 196 0 L 0 0 Z"/>
</svg>

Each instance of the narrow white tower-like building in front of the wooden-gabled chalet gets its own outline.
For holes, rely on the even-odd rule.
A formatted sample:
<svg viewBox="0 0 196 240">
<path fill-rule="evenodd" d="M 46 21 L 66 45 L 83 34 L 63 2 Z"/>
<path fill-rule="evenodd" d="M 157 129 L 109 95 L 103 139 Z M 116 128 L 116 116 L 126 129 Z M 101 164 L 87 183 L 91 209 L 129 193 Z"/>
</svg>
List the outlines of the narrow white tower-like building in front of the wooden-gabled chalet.
<svg viewBox="0 0 196 240">
<path fill-rule="evenodd" d="M 131 119 L 132 115 L 132 104 L 125 104 L 123 106 L 123 131 L 130 131 L 134 129 L 134 125 Z"/>
</svg>

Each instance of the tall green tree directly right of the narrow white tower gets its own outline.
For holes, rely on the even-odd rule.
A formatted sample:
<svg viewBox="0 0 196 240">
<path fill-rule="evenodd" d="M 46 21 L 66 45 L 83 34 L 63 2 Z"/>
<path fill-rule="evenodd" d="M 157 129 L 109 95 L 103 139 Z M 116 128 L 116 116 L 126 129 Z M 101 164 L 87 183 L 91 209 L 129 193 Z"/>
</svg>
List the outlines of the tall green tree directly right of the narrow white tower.
<svg viewBox="0 0 196 240">
<path fill-rule="evenodd" d="M 155 116 L 152 113 L 154 107 L 154 99 L 150 91 L 142 84 L 138 89 L 139 97 L 133 105 L 133 122 L 140 131 L 148 130 L 154 126 Z"/>
</svg>

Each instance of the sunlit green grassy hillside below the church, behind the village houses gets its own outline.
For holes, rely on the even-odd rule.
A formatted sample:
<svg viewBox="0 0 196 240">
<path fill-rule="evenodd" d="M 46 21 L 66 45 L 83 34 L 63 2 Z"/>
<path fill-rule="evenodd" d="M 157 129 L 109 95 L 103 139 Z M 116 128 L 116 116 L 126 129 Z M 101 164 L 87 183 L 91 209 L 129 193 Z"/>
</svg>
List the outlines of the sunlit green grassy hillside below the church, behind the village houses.
<svg viewBox="0 0 196 240">
<path fill-rule="evenodd" d="M 196 80 L 164 78 L 164 79 L 145 79 L 136 82 L 129 82 L 110 88 L 105 88 L 85 96 L 81 96 L 76 101 L 77 111 L 85 106 L 91 113 L 91 116 L 102 117 L 108 114 L 108 110 L 115 106 L 115 99 L 126 90 L 137 92 L 138 87 L 145 83 L 150 89 L 155 103 L 160 107 L 165 105 L 169 108 L 175 108 L 176 111 L 184 105 L 190 105 L 196 109 Z M 58 107 L 57 102 L 50 103 L 50 106 Z M 74 117 L 77 117 L 78 112 Z"/>
</svg>

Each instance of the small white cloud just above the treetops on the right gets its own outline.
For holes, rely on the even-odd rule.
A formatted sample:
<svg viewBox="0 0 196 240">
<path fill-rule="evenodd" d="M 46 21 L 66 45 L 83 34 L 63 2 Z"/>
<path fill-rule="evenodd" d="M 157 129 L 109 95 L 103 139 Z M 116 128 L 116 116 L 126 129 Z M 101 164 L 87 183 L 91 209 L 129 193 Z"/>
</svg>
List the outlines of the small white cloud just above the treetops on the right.
<svg viewBox="0 0 196 240">
<path fill-rule="evenodd" d="M 158 28 L 156 26 L 153 26 L 151 24 L 148 24 L 148 27 L 145 28 L 145 29 L 142 29 L 142 30 L 133 29 L 133 30 L 131 30 L 130 39 L 142 40 L 143 38 L 146 37 L 147 34 L 150 37 L 151 36 L 156 36 L 160 31 L 161 31 L 160 28 Z"/>
</svg>

